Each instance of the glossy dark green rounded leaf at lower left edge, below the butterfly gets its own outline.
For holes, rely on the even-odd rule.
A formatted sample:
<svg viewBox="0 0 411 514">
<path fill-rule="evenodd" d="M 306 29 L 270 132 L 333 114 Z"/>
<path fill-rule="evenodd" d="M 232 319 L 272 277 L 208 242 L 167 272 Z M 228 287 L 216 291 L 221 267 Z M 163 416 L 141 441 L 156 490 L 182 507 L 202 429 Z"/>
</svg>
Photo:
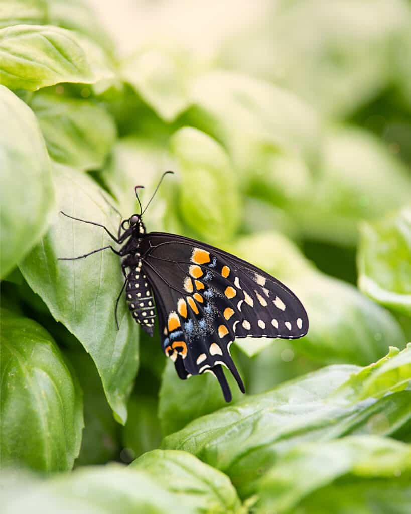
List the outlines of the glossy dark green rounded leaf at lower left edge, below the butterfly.
<svg viewBox="0 0 411 514">
<path fill-rule="evenodd" d="M 63 471 L 79 454 L 83 398 L 48 332 L 2 309 L 0 461 Z"/>
</svg>

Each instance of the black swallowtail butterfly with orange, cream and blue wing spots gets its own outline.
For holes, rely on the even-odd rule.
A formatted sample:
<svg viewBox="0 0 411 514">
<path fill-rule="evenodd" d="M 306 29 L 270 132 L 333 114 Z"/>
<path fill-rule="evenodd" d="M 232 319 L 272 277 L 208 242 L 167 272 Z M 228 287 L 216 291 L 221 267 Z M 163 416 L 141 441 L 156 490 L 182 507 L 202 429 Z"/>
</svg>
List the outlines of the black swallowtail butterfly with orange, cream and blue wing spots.
<svg viewBox="0 0 411 514">
<path fill-rule="evenodd" d="M 288 287 L 253 264 L 188 237 L 147 233 L 142 216 L 167 173 L 173 172 L 163 173 L 144 210 L 138 195 L 142 186 L 136 186 L 140 213 L 122 221 L 117 236 L 104 225 L 62 212 L 102 227 L 122 245 L 119 250 L 108 245 L 63 260 L 82 259 L 108 248 L 119 255 L 124 284 L 116 301 L 117 327 L 117 307 L 125 289 L 130 314 L 150 336 L 157 318 L 161 349 L 173 361 L 179 378 L 212 373 L 226 401 L 231 401 L 222 366 L 245 392 L 230 354 L 233 341 L 250 336 L 303 337 L 308 332 L 307 313 Z"/>
</svg>

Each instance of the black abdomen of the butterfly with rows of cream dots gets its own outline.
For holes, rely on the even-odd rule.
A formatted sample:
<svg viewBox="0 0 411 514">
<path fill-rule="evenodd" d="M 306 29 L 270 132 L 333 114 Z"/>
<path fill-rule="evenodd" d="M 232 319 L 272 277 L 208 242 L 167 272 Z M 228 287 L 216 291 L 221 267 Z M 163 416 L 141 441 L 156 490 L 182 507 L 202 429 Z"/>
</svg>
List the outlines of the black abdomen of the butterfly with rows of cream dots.
<svg viewBox="0 0 411 514">
<path fill-rule="evenodd" d="M 127 275 L 126 299 L 133 318 L 148 335 L 153 335 L 156 311 L 150 283 L 141 269 L 141 261 Z"/>
</svg>

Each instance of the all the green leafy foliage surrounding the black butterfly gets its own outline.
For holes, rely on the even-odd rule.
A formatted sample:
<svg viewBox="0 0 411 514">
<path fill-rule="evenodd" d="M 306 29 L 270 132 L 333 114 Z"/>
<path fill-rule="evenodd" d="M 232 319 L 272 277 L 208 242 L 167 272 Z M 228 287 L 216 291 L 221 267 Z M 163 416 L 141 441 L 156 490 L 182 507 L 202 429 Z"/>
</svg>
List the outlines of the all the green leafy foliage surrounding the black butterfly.
<svg viewBox="0 0 411 514">
<path fill-rule="evenodd" d="M 409 512 L 409 2 L 93 3 L 0 8 L 2 512 Z M 60 259 L 115 247 L 60 211 L 117 233 L 167 169 L 147 229 L 308 312 L 236 341 L 230 405 L 117 330 L 109 248 Z"/>
</svg>

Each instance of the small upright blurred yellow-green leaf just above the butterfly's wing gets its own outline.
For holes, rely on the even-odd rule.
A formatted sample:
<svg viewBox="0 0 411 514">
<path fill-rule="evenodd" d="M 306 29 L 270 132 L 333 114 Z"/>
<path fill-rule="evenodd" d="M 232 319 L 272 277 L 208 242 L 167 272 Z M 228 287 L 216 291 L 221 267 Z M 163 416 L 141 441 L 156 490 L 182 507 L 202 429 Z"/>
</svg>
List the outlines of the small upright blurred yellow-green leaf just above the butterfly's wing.
<svg viewBox="0 0 411 514">
<path fill-rule="evenodd" d="M 238 181 L 226 152 L 191 127 L 177 131 L 170 146 L 181 177 L 179 206 L 185 223 L 208 241 L 226 241 L 240 216 Z"/>
</svg>

